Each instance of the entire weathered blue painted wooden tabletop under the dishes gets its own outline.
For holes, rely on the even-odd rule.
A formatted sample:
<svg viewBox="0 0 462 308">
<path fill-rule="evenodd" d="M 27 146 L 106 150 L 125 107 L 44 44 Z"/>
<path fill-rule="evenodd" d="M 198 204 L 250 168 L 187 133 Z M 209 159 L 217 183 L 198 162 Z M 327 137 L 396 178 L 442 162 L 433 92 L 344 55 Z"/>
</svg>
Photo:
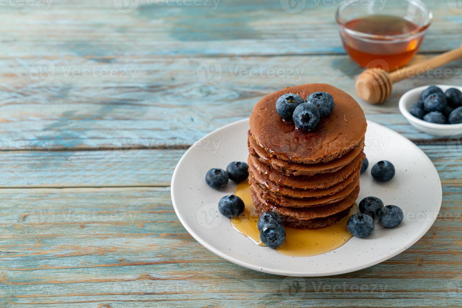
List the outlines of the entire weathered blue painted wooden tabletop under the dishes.
<svg viewBox="0 0 462 308">
<path fill-rule="evenodd" d="M 0 304 L 462 305 L 462 147 L 415 130 L 397 107 L 410 88 L 461 85 L 462 61 L 396 84 L 383 105 L 361 102 L 419 145 L 443 183 L 440 216 L 402 254 L 294 292 L 210 253 L 178 221 L 170 179 L 195 140 L 286 86 L 355 96 L 361 69 L 341 47 L 338 1 L 300 1 L 294 14 L 284 1 L 1 3 Z M 462 42 L 457 2 L 427 2 L 435 20 L 414 61 Z"/>
</svg>

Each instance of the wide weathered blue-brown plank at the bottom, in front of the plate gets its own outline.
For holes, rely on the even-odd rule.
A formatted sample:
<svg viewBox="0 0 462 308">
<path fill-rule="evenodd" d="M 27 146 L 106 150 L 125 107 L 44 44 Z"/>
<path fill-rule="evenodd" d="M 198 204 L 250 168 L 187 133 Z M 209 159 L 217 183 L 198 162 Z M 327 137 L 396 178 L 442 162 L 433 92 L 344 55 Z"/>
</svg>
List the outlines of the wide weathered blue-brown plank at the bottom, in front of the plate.
<svg viewBox="0 0 462 308">
<path fill-rule="evenodd" d="M 366 306 L 400 307 L 419 305 L 424 293 L 427 305 L 460 301 L 460 186 L 444 186 L 446 215 L 413 247 L 358 272 L 298 278 L 305 289 L 292 295 L 285 277 L 236 266 L 195 242 L 176 221 L 168 188 L 1 191 L 8 200 L 1 204 L 0 224 L 0 301 L 6 305 L 221 306 L 232 300 L 237 306 L 249 301 L 354 306 L 360 300 Z M 37 203 L 42 210 L 47 205 L 48 214 L 36 211 Z M 134 219 L 120 216 L 122 211 Z M 53 220 L 46 218 L 50 213 Z"/>
</svg>

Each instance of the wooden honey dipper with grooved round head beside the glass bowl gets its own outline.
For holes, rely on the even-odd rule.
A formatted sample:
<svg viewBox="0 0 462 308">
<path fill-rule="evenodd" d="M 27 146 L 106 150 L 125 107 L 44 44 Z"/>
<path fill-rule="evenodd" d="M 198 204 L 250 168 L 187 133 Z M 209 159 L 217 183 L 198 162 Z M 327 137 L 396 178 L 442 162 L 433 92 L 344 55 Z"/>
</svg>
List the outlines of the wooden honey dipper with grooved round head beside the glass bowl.
<svg viewBox="0 0 462 308">
<path fill-rule="evenodd" d="M 362 72 L 356 79 L 356 93 L 371 104 L 381 104 L 390 96 L 392 85 L 402 79 L 412 77 L 415 72 L 426 72 L 462 57 L 462 45 L 459 48 L 437 55 L 431 59 L 403 67 L 395 72 L 386 72 L 381 68 L 371 68 Z"/>
</svg>

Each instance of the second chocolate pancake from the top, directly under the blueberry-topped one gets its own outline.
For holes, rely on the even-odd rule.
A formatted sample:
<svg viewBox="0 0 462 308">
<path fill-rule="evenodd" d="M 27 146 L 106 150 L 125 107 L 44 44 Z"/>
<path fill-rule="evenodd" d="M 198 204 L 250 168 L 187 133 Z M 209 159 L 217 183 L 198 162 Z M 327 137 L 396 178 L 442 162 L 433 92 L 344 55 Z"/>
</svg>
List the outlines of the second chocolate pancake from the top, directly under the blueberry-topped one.
<svg viewBox="0 0 462 308">
<path fill-rule="evenodd" d="M 345 155 L 335 158 L 327 163 L 292 163 L 270 155 L 256 143 L 250 131 L 248 134 L 249 137 L 247 144 L 249 146 L 250 155 L 253 155 L 259 158 L 262 162 L 271 165 L 271 167 L 284 175 L 315 175 L 318 173 L 331 173 L 338 171 L 348 163 L 351 163 L 364 148 L 363 137 L 360 143 L 353 147 L 353 149 Z"/>
</svg>

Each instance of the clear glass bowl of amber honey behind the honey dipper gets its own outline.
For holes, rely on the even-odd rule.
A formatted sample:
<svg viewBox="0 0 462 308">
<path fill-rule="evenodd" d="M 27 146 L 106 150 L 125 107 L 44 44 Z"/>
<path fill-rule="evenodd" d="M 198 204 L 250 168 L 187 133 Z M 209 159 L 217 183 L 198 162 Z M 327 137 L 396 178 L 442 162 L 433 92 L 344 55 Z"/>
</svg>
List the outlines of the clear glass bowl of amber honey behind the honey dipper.
<svg viewBox="0 0 462 308">
<path fill-rule="evenodd" d="M 432 18 L 420 0 L 344 0 L 335 14 L 346 53 L 389 72 L 412 59 Z"/>
</svg>

